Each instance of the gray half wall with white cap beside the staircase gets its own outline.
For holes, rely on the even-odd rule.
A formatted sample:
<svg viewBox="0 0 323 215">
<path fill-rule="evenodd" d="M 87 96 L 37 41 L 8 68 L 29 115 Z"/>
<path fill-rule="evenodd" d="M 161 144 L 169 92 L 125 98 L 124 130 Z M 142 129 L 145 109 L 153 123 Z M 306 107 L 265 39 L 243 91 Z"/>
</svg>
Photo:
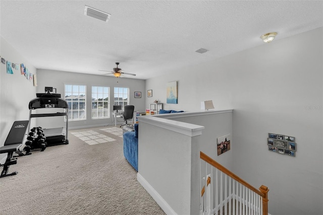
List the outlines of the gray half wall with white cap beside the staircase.
<svg viewBox="0 0 323 215">
<path fill-rule="evenodd" d="M 218 158 L 217 136 L 232 134 L 232 110 L 159 114 L 138 119 L 138 181 L 167 214 L 198 214 L 200 176 L 205 175 L 204 170 L 200 172 L 200 151 L 212 159 Z M 191 132 L 192 128 L 195 131 Z M 232 150 L 226 155 L 219 158 L 230 169 Z"/>
</svg>

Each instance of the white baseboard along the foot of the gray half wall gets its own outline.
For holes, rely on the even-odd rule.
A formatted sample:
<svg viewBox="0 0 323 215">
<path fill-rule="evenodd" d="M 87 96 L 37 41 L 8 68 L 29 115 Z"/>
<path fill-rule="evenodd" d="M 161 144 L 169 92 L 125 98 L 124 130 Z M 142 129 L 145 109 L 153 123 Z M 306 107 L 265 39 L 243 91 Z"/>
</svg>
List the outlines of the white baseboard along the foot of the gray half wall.
<svg viewBox="0 0 323 215">
<path fill-rule="evenodd" d="M 157 202 L 157 204 L 164 210 L 166 214 L 174 214 L 177 213 L 172 209 L 172 207 L 164 200 L 163 197 L 157 193 L 157 191 L 139 174 L 137 173 L 137 181 L 147 190 L 147 192 L 151 195 L 151 197 Z"/>
</svg>

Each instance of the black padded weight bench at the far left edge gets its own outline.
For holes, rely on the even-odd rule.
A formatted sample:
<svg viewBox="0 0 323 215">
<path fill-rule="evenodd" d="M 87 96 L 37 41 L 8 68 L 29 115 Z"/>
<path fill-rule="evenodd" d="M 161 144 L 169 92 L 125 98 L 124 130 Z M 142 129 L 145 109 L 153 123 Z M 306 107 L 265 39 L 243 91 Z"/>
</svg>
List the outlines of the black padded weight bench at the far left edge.
<svg viewBox="0 0 323 215">
<path fill-rule="evenodd" d="M 14 152 L 17 152 L 19 148 L 22 146 L 22 142 L 24 141 L 26 129 L 28 127 L 29 120 L 25 121 L 15 121 L 12 125 L 5 144 L 3 147 L 0 147 L 0 154 L 8 153 L 7 159 L 4 166 L 3 171 L 1 172 L 0 178 L 17 175 L 18 172 L 13 172 L 8 174 L 10 165 L 17 164 L 17 158 L 14 158 Z"/>
</svg>

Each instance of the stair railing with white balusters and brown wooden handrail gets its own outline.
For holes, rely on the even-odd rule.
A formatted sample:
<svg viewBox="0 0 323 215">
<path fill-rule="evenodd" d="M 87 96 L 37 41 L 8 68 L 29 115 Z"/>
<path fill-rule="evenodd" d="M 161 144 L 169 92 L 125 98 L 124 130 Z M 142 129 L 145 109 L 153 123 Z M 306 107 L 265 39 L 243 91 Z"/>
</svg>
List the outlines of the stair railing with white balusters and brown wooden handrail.
<svg viewBox="0 0 323 215">
<path fill-rule="evenodd" d="M 200 159 L 200 214 L 268 215 L 266 186 L 257 190 L 202 152 Z"/>
</svg>

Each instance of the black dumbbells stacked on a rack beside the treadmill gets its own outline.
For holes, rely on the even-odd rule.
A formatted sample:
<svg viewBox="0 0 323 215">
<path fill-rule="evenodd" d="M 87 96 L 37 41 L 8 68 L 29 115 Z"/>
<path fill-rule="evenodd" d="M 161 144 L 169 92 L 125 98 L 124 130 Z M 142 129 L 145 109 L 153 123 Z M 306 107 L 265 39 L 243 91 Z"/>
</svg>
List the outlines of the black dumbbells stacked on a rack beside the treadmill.
<svg viewBox="0 0 323 215">
<path fill-rule="evenodd" d="M 30 132 L 27 136 L 27 140 L 25 142 L 26 146 L 24 150 L 26 151 L 26 153 L 29 153 L 31 150 L 34 149 L 41 149 L 41 151 L 44 151 L 46 149 L 46 137 L 43 132 L 44 130 L 41 129 L 41 127 L 33 127 L 30 129 Z"/>
</svg>

